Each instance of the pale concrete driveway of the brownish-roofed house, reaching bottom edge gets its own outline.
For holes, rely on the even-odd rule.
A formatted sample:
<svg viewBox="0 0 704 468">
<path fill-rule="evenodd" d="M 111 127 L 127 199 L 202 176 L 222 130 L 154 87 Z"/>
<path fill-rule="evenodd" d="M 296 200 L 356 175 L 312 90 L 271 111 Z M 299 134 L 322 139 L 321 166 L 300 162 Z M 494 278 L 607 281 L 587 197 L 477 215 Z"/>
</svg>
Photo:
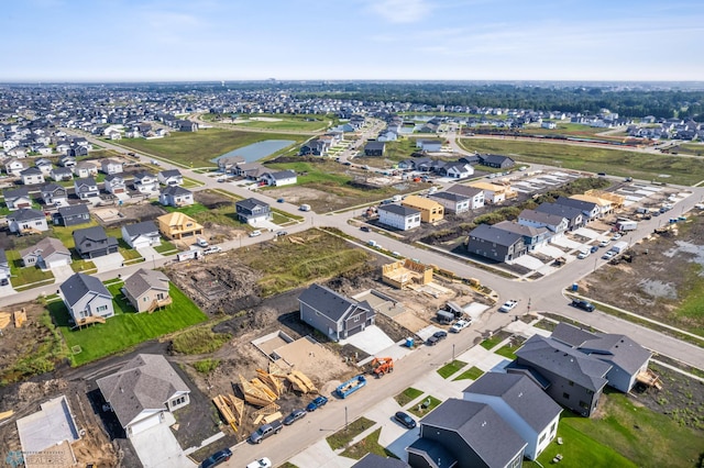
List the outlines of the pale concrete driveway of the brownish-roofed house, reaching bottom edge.
<svg viewBox="0 0 704 468">
<path fill-rule="evenodd" d="M 164 422 L 131 438 L 144 468 L 195 468 L 178 445 L 169 426 L 176 422 L 174 415 L 164 413 Z"/>
</svg>

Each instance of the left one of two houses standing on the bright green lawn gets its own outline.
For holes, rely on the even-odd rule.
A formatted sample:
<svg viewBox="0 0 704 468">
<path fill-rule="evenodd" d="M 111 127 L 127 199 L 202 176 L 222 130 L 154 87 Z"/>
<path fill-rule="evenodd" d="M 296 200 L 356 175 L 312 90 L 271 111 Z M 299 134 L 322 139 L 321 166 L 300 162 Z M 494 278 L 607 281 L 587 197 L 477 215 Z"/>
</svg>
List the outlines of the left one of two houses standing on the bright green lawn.
<svg viewBox="0 0 704 468">
<path fill-rule="evenodd" d="M 64 281 L 59 291 L 76 325 L 103 322 L 114 315 L 112 294 L 94 276 L 74 274 Z"/>
</svg>

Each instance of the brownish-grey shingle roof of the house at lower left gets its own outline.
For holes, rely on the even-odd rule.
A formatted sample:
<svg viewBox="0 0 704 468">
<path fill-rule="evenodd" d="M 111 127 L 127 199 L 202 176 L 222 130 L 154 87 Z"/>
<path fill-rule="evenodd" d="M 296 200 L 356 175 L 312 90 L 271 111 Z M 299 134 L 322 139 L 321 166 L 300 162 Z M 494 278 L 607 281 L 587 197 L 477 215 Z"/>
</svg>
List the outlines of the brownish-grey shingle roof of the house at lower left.
<svg viewBox="0 0 704 468">
<path fill-rule="evenodd" d="M 161 355 L 140 354 L 117 372 L 96 381 L 122 427 L 144 410 L 166 410 L 166 401 L 188 386 Z"/>
</svg>

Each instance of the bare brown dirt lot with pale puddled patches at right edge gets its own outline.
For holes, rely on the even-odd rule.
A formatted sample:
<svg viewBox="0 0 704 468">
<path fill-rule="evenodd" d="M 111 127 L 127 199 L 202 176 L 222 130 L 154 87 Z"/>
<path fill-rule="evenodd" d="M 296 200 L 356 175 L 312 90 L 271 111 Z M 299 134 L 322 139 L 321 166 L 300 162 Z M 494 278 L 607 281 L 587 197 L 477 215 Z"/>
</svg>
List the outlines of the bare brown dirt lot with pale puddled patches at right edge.
<svg viewBox="0 0 704 468">
<path fill-rule="evenodd" d="M 629 254 L 631 263 L 605 265 L 580 281 L 581 293 L 704 335 L 704 216 L 671 224 Z"/>
</svg>

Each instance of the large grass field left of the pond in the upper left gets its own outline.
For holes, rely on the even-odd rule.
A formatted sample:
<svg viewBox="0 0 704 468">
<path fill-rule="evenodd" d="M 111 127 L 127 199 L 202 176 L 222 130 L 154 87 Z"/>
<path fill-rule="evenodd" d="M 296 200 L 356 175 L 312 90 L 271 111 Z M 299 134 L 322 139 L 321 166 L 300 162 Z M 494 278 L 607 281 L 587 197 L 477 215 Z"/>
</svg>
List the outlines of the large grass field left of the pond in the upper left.
<svg viewBox="0 0 704 468">
<path fill-rule="evenodd" d="M 292 140 L 296 142 L 292 146 L 297 146 L 306 140 L 306 136 L 208 129 L 194 133 L 175 132 L 166 138 L 124 138 L 120 141 L 120 145 L 184 167 L 215 167 L 216 164 L 210 159 L 265 140 Z M 279 153 L 286 151 L 287 148 Z"/>
</svg>

